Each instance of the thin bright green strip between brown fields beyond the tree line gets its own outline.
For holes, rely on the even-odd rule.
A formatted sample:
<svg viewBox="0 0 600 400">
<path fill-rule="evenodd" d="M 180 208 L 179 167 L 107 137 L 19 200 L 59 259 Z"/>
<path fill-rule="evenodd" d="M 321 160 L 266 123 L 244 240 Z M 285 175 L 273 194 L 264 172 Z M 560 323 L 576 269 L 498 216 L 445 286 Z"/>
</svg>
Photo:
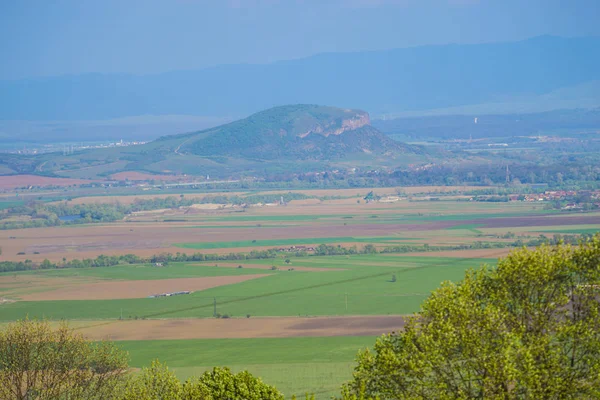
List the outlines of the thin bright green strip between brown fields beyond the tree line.
<svg viewBox="0 0 600 400">
<path fill-rule="evenodd" d="M 403 238 L 400 236 L 385 237 L 325 237 L 325 238 L 301 238 L 301 239 L 266 239 L 266 240 L 239 240 L 233 242 L 204 242 L 204 243 L 175 243 L 177 247 L 184 249 L 229 249 L 238 247 L 259 246 L 294 246 L 315 243 L 386 243 L 398 240 L 417 240 L 417 238 Z"/>
</svg>

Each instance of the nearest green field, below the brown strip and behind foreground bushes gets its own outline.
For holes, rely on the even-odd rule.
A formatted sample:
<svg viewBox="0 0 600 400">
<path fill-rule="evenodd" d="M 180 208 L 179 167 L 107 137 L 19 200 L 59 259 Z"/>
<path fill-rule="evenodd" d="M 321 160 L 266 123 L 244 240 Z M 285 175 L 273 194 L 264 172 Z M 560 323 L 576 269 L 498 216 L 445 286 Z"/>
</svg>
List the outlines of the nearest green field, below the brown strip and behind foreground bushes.
<svg viewBox="0 0 600 400">
<path fill-rule="evenodd" d="M 339 394 L 341 384 L 352 376 L 358 350 L 374 343 L 374 337 L 359 336 L 127 341 L 119 345 L 129 352 L 134 367 L 148 366 L 158 358 L 186 379 L 213 366 L 228 366 L 260 376 L 286 398 L 311 392 L 323 399 Z"/>
</svg>

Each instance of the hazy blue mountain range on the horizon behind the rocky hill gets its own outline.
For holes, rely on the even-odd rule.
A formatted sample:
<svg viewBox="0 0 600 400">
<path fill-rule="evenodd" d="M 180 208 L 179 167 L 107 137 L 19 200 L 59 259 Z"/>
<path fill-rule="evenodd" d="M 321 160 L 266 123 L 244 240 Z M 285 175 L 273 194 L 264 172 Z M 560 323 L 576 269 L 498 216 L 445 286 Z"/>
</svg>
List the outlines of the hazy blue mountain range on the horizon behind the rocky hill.
<svg viewBox="0 0 600 400">
<path fill-rule="evenodd" d="M 543 36 L 510 43 L 329 53 L 143 76 L 86 74 L 2 81 L 0 120 L 142 115 L 231 120 L 298 103 L 337 104 L 375 115 L 464 110 L 482 104 L 487 105 L 486 113 L 494 113 L 494 104 L 501 105 L 501 112 L 520 112 L 511 110 L 511 104 L 523 108 L 540 98 L 545 99 L 545 109 L 565 108 L 561 96 L 569 98 L 568 108 L 598 106 L 598 91 L 586 89 L 597 87 L 597 81 L 600 38 Z"/>
</svg>

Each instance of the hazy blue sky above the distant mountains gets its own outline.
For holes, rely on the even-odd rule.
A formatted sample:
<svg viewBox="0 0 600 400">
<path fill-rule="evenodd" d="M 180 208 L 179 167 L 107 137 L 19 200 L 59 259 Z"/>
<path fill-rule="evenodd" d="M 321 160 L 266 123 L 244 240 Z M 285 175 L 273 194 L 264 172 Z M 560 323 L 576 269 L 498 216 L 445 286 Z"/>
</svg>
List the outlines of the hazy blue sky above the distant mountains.
<svg viewBox="0 0 600 400">
<path fill-rule="evenodd" d="M 600 35 L 600 0 L 0 0 L 0 79 Z"/>
</svg>

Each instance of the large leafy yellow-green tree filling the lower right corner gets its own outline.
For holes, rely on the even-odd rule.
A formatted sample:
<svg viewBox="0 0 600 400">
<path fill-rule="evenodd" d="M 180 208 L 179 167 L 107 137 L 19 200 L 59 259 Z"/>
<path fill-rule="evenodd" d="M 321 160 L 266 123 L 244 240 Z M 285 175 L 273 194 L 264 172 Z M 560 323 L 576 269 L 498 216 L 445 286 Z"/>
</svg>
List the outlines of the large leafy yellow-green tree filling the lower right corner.
<svg viewBox="0 0 600 400">
<path fill-rule="evenodd" d="M 600 396 L 600 236 L 520 249 L 446 282 L 358 355 L 343 399 Z"/>
</svg>

